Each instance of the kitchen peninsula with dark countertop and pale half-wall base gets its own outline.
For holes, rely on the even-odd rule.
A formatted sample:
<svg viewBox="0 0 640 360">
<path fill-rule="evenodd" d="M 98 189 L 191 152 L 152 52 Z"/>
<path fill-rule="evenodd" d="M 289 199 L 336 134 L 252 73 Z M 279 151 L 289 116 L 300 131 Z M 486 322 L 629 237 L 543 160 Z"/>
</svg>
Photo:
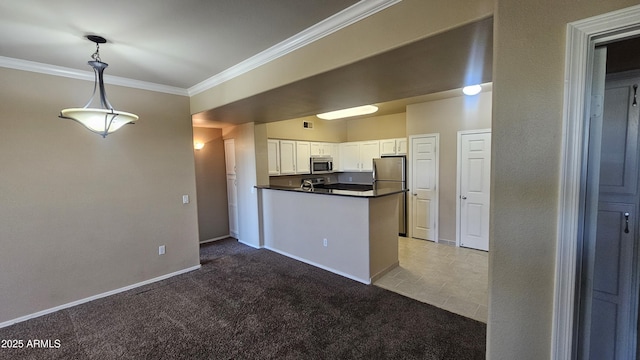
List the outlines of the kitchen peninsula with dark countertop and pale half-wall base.
<svg viewBox="0 0 640 360">
<path fill-rule="evenodd" d="M 258 189 L 265 248 L 365 284 L 398 266 L 406 190 Z"/>
</svg>

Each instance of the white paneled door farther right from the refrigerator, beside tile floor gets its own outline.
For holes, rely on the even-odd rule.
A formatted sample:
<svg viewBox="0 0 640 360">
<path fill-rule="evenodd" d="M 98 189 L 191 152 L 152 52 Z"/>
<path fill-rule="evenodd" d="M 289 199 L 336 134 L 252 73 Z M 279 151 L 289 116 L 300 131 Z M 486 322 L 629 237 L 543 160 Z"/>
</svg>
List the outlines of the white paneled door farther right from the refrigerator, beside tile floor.
<svg viewBox="0 0 640 360">
<path fill-rule="evenodd" d="M 491 131 L 458 132 L 458 246 L 489 250 Z"/>
</svg>

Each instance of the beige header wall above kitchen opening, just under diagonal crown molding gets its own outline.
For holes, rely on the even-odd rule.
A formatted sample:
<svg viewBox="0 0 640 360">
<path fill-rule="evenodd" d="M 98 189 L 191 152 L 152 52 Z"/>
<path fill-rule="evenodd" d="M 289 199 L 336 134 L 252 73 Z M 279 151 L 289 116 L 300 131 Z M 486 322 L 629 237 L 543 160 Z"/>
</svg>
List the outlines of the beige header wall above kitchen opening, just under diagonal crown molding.
<svg viewBox="0 0 640 360">
<path fill-rule="evenodd" d="M 228 104 L 470 23 L 491 15 L 493 7 L 494 0 L 403 0 L 286 56 L 192 96 L 191 113 Z"/>
</svg>

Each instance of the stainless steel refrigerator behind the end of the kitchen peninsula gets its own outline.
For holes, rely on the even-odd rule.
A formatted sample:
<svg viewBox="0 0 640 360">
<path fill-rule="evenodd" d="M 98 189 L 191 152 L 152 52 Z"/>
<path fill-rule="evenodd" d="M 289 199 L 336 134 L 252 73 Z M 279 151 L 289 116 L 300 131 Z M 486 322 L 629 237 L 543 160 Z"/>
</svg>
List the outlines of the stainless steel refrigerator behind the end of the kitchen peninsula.
<svg viewBox="0 0 640 360">
<path fill-rule="evenodd" d="M 407 186 L 407 158 L 405 156 L 384 156 L 373 159 L 374 189 L 404 190 Z M 398 196 L 398 233 L 407 234 L 407 194 Z"/>
</svg>

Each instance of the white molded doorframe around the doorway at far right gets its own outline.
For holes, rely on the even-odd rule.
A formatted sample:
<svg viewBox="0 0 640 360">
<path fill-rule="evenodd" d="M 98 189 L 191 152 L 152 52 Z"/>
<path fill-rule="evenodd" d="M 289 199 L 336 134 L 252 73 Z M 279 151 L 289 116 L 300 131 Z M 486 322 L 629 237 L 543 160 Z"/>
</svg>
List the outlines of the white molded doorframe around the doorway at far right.
<svg viewBox="0 0 640 360">
<path fill-rule="evenodd" d="M 640 5 L 567 24 L 551 359 L 571 359 L 575 354 L 594 48 L 638 34 Z"/>
</svg>

